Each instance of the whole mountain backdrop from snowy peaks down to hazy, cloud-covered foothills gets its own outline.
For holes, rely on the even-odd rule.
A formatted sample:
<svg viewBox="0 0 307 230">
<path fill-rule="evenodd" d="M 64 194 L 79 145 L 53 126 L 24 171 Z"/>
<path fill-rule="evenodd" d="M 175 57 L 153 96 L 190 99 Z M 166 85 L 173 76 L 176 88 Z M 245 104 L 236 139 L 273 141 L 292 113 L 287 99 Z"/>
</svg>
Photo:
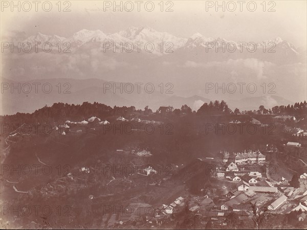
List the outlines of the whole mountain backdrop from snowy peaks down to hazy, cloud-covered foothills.
<svg viewBox="0 0 307 230">
<path fill-rule="evenodd" d="M 149 105 L 154 110 L 161 104 L 180 107 L 185 103 L 197 110 L 211 99 L 225 100 L 231 109 L 238 107 L 245 110 L 256 109 L 254 105 L 270 108 L 272 105 L 291 104 L 304 100 L 306 95 L 305 50 L 296 49 L 280 37 L 254 43 L 206 37 L 200 33 L 183 38 L 149 27 L 129 27 L 113 34 L 83 29 L 67 38 L 37 33 L 25 39 L 24 33 L 19 32 L 19 35 L 12 39 L 14 44 L 18 40 L 30 44 L 50 42 L 55 49 L 52 52 L 41 50 L 39 46 L 38 51 L 32 49 L 31 52 L 5 49 L 2 76 L 8 79 L 7 82 L 10 80 L 15 84 L 20 79 L 26 83 L 40 82 L 41 85 L 52 82 L 54 94 L 10 94 L 10 90 L 7 90 L 7 94 L 2 95 L 6 102 L 3 105 L 4 114 L 30 112 L 59 101 L 97 101 L 112 106 L 135 105 L 138 108 Z M 167 42 L 171 42 L 171 46 L 169 43 L 166 45 Z M 254 47 L 255 52 L 248 51 L 249 42 L 249 49 Z M 58 52 L 59 43 L 63 45 L 62 52 Z M 142 45 L 138 47 L 138 43 Z M 151 49 L 150 44 L 155 49 L 147 52 L 146 43 L 149 43 L 147 49 Z M 164 44 L 163 52 L 161 43 Z M 104 47 L 106 44 L 107 49 Z M 121 44 L 126 45 L 125 49 L 130 49 L 129 45 L 132 44 L 133 50 L 123 51 Z M 116 45 L 115 49 L 112 45 Z M 223 45 L 226 45 L 225 51 Z M 63 52 L 64 49 L 71 52 Z M 173 52 L 167 52 L 168 49 Z M 229 52 L 233 49 L 234 52 Z M 275 52 L 269 52 L 272 49 Z M 152 83 L 156 94 L 104 94 L 101 86 L 104 81 L 118 84 Z M 72 94 L 58 94 L 56 85 L 59 82 L 62 85 L 70 83 Z M 240 93 L 239 87 L 235 93 L 229 93 L 228 84 L 238 86 L 242 82 L 246 83 L 243 93 Z M 165 94 L 166 88 L 161 94 L 161 83 L 164 87 L 171 83 L 173 94 Z M 212 83 L 214 88 L 207 90 L 207 83 Z M 272 88 L 270 83 L 274 83 L 273 94 L 268 93 Z M 257 86 L 255 93 L 248 91 L 248 84 Z M 224 90 L 220 88 L 216 91 L 221 86 Z"/>
</svg>

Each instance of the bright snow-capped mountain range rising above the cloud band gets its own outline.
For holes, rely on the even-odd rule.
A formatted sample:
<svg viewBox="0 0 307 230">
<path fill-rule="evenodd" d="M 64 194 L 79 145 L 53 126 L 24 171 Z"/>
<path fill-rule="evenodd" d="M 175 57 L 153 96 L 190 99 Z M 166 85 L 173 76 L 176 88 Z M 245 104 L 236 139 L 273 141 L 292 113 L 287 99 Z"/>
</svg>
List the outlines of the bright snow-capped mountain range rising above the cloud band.
<svg viewBox="0 0 307 230">
<path fill-rule="evenodd" d="M 77 51 L 79 48 L 90 45 L 90 47 L 97 48 L 99 50 L 112 50 L 114 52 L 122 52 L 120 48 L 114 48 L 116 46 L 122 46 L 124 50 L 133 50 L 138 52 L 144 52 L 144 45 L 147 44 L 146 52 L 156 55 L 168 54 L 172 51 L 178 49 L 193 50 L 198 48 L 212 48 L 212 44 L 215 47 L 221 45 L 229 46 L 227 49 L 233 50 L 233 45 L 235 45 L 236 51 L 239 52 L 240 49 L 245 49 L 250 41 L 244 43 L 239 43 L 235 41 L 228 41 L 224 38 L 212 38 L 205 37 L 200 33 L 195 33 L 189 38 L 176 37 L 167 32 L 159 32 L 155 29 L 149 27 L 129 27 L 126 30 L 119 31 L 113 34 L 106 34 L 101 30 L 80 30 L 74 33 L 68 38 L 60 37 L 57 35 L 45 35 L 37 33 L 36 35 L 30 36 L 21 42 L 50 42 L 53 46 L 57 46 L 59 43 L 64 44 L 65 42 L 70 43 L 70 50 L 72 52 Z M 149 42 L 151 44 L 149 44 Z M 106 44 L 108 43 L 108 44 Z M 210 44 L 209 44 L 210 43 Z M 251 42 L 249 48 L 253 50 L 253 44 L 256 44 L 256 49 L 259 51 L 276 51 L 282 50 L 286 55 L 297 55 L 297 51 L 293 44 L 286 40 L 277 37 L 272 40 L 262 41 L 262 42 Z M 153 47 L 152 47 L 153 44 Z M 123 47 L 123 45 L 126 45 Z M 162 48 L 163 47 L 163 48 Z M 215 50 L 215 47 L 211 50 Z M 154 48 L 153 51 L 151 51 Z M 167 51 L 166 51 L 167 50 Z M 210 49 L 209 49 L 210 50 Z M 221 49 L 220 49 L 221 50 Z M 207 49 L 208 51 L 208 49 Z"/>
</svg>

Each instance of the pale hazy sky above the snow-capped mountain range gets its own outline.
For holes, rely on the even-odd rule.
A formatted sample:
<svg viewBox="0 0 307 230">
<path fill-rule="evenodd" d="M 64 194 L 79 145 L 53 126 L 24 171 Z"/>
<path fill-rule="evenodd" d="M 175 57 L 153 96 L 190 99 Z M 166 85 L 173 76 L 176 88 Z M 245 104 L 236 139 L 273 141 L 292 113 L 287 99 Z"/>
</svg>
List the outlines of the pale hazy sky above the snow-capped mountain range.
<svg viewBox="0 0 307 230">
<path fill-rule="evenodd" d="M 10 1 L 9 1 L 10 2 Z M 31 2 L 31 1 L 30 1 Z M 43 2 L 43 1 L 42 1 Z M 223 37 L 234 41 L 261 41 L 281 37 L 293 43 L 295 47 L 306 47 L 306 1 L 266 1 L 266 12 L 263 12 L 262 1 L 255 1 L 257 9 L 251 12 L 247 8 L 246 1 L 242 12 L 239 3 L 233 1 L 236 10 L 230 12 L 222 8 L 208 8 L 206 2 L 215 1 L 172 1 L 161 12 L 161 1 L 152 1 L 155 9 L 152 12 L 145 10 L 145 2 L 137 11 L 136 1 L 131 1 L 134 10 L 123 12 L 113 10 L 113 7 L 103 11 L 103 2 L 113 4 L 113 1 L 70 1 L 71 12 L 58 12 L 57 1 L 52 1 L 52 10 L 45 12 L 41 6 L 35 12 L 35 5 L 29 12 L 20 12 L 10 8 L 3 8 L 1 15 L 1 32 L 3 35 L 9 31 L 25 32 L 26 36 L 41 32 L 43 34 L 57 34 L 69 37 L 81 29 L 102 30 L 104 33 L 114 33 L 130 26 L 149 26 L 161 32 L 168 32 L 180 37 L 190 37 L 194 33 L 201 33 L 205 37 Z M 228 9 L 233 5 L 228 4 Z M 120 4 L 119 1 L 117 4 Z M 208 3 L 207 3 L 208 4 Z M 223 4 L 223 1 L 219 1 Z M 274 6 L 275 5 L 275 6 Z M 68 5 L 65 5 L 68 6 Z M 65 7 L 62 6 L 61 10 Z M 130 5 L 126 5 L 130 8 Z M 150 4 L 147 5 L 148 9 Z M 171 6 L 173 12 L 165 12 Z M 24 6 L 25 9 L 28 6 Z M 249 5 L 253 9 L 253 5 Z M 268 12 L 272 7 L 275 12 Z M 48 5 L 46 6 L 48 9 Z"/>
</svg>

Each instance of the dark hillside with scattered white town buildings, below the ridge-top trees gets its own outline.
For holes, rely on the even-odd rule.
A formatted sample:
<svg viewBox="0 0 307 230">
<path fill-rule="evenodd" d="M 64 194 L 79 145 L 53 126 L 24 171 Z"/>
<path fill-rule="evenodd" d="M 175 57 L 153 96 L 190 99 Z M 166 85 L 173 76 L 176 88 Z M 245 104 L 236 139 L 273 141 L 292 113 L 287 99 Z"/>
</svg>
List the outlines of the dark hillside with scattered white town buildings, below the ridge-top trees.
<svg viewBox="0 0 307 230">
<path fill-rule="evenodd" d="M 3 188 L 12 190 L 17 204 L 27 196 L 46 202 L 63 199 L 64 203 L 82 196 L 85 201 L 73 206 L 71 215 L 78 216 L 78 210 L 83 209 L 88 214 L 71 220 L 75 227 L 92 218 L 93 228 L 229 229 L 280 223 L 303 228 L 307 221 L 304 116 L 253 113 L 203 117 L 201 110 L 183 109 L 174 114 L 171 109 L 156 113 L 133 109 L 116 115 L 89 112 L 64 116 L 49 119 L 49 123 L 36 120 L 38 127 L 50 126 L 49 133 L 27 129 L 29 124 L 20 122 L 10 132 L 4 130 L 7 134 L 2 143 L 12 150 L 3 152 L 3 162 L 18 156 L 31 164 L 46 166 L 54 161 L 53 167 L 58 167 L 57 162 L 69 167 L 60 175 L 49 176 L 48 183 L 32 188 L 23 181 L 29 185 L 40 177 L 12 175 L 8 170 Z M 199 125 L 204 119 L 210 126 Z M 172 125 L 171 134 L 162 128 L 166 124 Z M 203 129 L 212 124 L 219 128 L 250 125 L 259 134 Z M 271 124 L 273 135 L 264 135 Z M 145 127 L 153 127 L 155 132 Z M 181 145 L 190 135 L 205 143 Z M 225 142 L 224 136 L 230 141 Z M 176 142 L 178 139 L 181 141 Z M 25 153 L 19 146 L 26 146 Z M 51 217 L 48 220 L 51 226 Z M 10 221 L 19 223 L 15 217 Z M 38 226 L 33 221 L 29 227 Z"/>
</svg>

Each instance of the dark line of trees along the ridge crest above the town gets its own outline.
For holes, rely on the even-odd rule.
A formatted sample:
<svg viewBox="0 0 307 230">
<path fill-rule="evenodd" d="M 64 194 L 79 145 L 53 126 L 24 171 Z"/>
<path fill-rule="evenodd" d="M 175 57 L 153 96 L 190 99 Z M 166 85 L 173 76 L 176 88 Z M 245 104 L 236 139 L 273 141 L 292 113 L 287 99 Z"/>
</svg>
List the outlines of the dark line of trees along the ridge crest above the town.
<svg viewBox="0 0 307 230">
<path fill-rule="evenodd" d="M 81 105 L 77 104 L 67 104 L 67 103 L 54 103 L 52 106 L 48 107 L 47 105 L 43 108 L 36 110 L 33 113 L 19 113 L 17 112 L 14 115 L 1 116 L 2 122 L 9 123 L 60 123 L 64 122 L 67 119 L 73 121 L 81 121 L 87 119 L 91 116 L 96 116 L 99 118 L 107 117 L 125 117 L 137 118 L 137 117 L 148 117 L 149 120 L 152 119 L 165 119 L 165 118 L 176 118 L 179 116 L 191 116 L 192 114 L 206 115 L 206 116 L 216 116 L 216 115 L 250 115 L 254 116 L 255 114 L 291 114 L 291 115 L 302 115 L 306 114 L 307 103 L 306 101 L 295 103 L 294 105 L 288 106 L 275 106 L 271 109 L 266 109 L 265 106 L 260 105 L 258 110 L 254 111 L 242 111 L 240 112 L 238 108 L 235 108 L 232 111 L 225 101 L 210 101 L 210 103 L 204 103 L 198 110 L 192 111 L 188 105 L 182 105 L 181 109 L 174 109 L 172 106 L 160 106 L 156 112 L 146 106 L 144 110 L 136 109 L 134 106 L 107 106 L 98 102 L 89 103 L 83 102 Z"/>
</svg>

